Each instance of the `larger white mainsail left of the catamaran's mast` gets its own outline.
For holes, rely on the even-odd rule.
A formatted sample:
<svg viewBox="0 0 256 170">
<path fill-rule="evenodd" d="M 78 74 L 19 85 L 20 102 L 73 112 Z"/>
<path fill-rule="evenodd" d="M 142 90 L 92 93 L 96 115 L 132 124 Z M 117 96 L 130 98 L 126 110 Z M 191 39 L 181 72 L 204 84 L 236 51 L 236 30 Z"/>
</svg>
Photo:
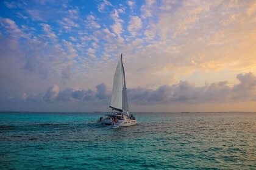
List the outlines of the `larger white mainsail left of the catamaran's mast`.
<svg viewBox="0 0 256 170">
<path fill-rule="evenodd" d="M 110 107 L 112 109 L 123 111 L 123 66 L 122 56 L 116 66 L 116 72 L 113 81 L 113 90 Z"/>
</svg>

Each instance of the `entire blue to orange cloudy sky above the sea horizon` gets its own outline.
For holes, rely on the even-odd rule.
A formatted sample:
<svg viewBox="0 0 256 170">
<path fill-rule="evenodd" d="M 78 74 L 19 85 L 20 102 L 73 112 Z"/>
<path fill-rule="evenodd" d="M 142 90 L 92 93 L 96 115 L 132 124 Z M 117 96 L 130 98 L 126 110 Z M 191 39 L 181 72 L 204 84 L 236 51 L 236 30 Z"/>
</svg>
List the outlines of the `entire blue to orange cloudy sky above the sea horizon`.
<svg viewBox="0 0 256 170">
<path fill-rule="evenodd" d="M 256 1 L 1 1 L 0 110 L 256 111 Z"/>
</svg>

